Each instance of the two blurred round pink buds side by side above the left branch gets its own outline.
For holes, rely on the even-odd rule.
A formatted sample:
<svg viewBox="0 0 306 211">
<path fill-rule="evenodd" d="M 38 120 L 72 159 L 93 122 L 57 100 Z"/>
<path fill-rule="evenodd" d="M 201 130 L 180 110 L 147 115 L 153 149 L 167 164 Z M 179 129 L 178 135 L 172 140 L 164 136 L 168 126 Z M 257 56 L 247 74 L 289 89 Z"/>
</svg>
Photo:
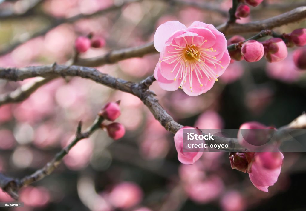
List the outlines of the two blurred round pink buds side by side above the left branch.
<svg viewBox="0 0 306 211">
<path fill-rule="evenodd" d="M 92 35 L 80 36 L 76 39 L 74 46 L 78 53 L 84 53 L 88 51 L 90 47 L 102 48 L 105 46 L 105 39 L 102 37 L 92 37 Z"/>
</svg>

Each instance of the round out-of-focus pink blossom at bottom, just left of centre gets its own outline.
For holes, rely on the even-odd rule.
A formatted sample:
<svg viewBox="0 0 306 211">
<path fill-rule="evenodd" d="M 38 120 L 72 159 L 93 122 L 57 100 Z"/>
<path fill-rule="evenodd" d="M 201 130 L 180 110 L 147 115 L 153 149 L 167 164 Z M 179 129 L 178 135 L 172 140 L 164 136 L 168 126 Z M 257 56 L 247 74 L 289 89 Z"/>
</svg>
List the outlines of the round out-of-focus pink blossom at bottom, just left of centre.
<svg viewBox="0 0 306 211">
<path fill-rule="evenodd" d="M 110 203 L 121 209 L 128 209 L 137 205 L 142 198 L 142 190 L 133 182 L 122 182 L 116 185 L 109 194 Z"/>
</svg>

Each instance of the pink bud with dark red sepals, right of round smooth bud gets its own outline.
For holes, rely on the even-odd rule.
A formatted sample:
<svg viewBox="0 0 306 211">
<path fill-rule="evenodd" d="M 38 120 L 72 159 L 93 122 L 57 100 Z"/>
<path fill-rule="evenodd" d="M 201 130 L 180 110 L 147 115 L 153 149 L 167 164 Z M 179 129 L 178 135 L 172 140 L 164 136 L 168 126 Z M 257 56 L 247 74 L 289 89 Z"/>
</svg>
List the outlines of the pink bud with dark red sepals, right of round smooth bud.
<svg viewBox="0 0 306 211">
<path fill-rule="evenodd" d="M 284 60 L 287 55 L 287 46 L 280 38 L 271 38 L 262 42 L 265 50 L 264 56 L 268 62 L 278 62 Z"/>
</svg>

